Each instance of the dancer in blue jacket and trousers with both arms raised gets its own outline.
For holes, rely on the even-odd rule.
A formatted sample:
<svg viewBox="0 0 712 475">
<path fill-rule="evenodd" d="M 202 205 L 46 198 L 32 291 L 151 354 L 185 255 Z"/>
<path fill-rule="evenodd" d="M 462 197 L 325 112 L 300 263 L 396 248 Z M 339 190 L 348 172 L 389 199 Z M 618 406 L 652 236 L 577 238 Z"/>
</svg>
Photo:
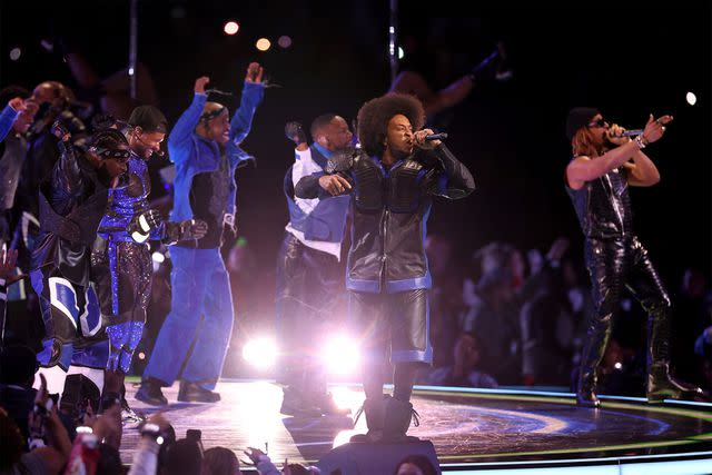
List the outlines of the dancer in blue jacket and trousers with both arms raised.
<svg viewBox="0 0 712 475">
<path fill-rule="evenodd" d="M 257 106 L 263 100 L 263 68 L 247 68 L 240 108 L 231 121 L 228 109 L 208 102 L 209 78 L 196 80 L 192 103 L 168 138 L 168 151 L 176 164 L 171 221 L 201 219 L 208 230 L 201 239 L 178 243 L 172 260 L 171 311 L 166 318 L 144 382 L 136 398 L 152 405 L 167 404 L 161 386 L 178 377 L 188 349 L 178 400 L 217 402 L 214 392 L 220 377 L 233 330 L 233 295 L 220 256 L 225 226 L 235 226 L 235 169 L 249 159 L 238 145 L 247 137 Z"/>
</svg>

